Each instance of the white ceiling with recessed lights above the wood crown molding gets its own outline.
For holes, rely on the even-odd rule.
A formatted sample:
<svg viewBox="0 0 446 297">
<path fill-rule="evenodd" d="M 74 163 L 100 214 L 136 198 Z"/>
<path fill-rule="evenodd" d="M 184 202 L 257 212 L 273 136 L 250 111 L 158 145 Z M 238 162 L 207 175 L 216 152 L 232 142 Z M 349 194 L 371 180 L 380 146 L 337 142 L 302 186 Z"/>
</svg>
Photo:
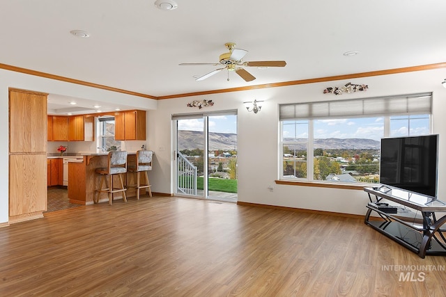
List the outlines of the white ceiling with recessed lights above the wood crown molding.
<svg viewBox="0 0 446 297">
<path fill-rule="evenodd" d="M 158 97 L 446 62 L 445 0 L 154 2 L 1 0 L 0 63 Z M 217 66 L 178 65 L 218 63 L 225 42 L 287 65 L 246 67 L 249 83 L 195 81 Z"/>
</svg>

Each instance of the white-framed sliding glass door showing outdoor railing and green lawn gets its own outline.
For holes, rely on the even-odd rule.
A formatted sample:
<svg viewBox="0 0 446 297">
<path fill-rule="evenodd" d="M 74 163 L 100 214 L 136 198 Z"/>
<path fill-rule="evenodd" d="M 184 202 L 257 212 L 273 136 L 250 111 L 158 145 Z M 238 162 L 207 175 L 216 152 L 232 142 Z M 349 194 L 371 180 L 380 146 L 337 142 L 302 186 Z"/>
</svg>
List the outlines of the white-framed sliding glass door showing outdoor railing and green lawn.
<svg viewBox="0 0 446 297">
<path fill-rule="evenodd" d="M 236 113 L 178 115 L 176 195 L 237 201 Z"/>
</svg>

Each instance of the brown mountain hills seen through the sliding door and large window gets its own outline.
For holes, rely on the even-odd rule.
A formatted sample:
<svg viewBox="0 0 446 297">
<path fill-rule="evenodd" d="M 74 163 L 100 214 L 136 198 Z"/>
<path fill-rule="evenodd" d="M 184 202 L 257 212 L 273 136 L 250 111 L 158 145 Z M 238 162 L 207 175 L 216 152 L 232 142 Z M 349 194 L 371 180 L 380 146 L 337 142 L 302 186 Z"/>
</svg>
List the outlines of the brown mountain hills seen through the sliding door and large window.
<svg viewBox="0 0 446 297">
<path fill-rule="evenodd" d="M 292 138 L 285 138 L 285 141 L 292 141 Z M 298 138 L 297 150 L 305 150 L 305 138 Z M 203 132 L 201 131 L 178 131 L 178 150 L 194 150 L 199 148 L 203 150 Z M 291 147 L 290 147 L 291 148 Z M 325 138 L 315 139 L 314 148 L 323 150 L 339 149 L 339 150 L 366 150 L 380 148 L 380 141 L 374 141 L 367 138 Z M 237 150 L 237 134 L 233 133 L 209 133 L 209 150 Z"/>
</svg>

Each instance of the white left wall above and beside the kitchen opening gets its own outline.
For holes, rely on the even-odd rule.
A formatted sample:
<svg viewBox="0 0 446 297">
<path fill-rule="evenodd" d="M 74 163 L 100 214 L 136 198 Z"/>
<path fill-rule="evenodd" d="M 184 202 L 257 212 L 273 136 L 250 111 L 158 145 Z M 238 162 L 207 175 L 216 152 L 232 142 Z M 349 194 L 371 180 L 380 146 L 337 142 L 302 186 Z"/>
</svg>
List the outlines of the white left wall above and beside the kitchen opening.
<svg viewBox="0 0 446 297">
<path fill-rule="evenodd" d="M 108 90 L 101 90 L 98 88 L 89 88 L 86 86 L 77 85 L 75 83 L 66 83 L 53 79 L 34 77 L 32 75 L 11 72 L 8 70 L 0 70 L 0 127 L 2 127 L 2 132 L 0 134 L 0 163 L 5 164 L 3 165 L 4 170 L 0 171 L 0 188 L 3 188 L 3 191 L 0 193 L 0 224 L 8 222 L 9 210 L 8 88 L 20 88 L 24 90 L 34 90 L 43 93 L 54 93 L 70 97 L 94 99 L 98 102 L 112 102 L 116 104 L 124 103 L 125 105 L 133 106 L 134 109 L 149 110 L 157 108 L 157 101 L 153 99 L 126 95 L 122 93 L 111 92 Z M 126 144 L 127 143 L 129 142 L 126 142 Z M 136 145 L 139 145 L 139 147 L 141 147 L 139 143 L 129 144 L 132 149 L 133 147 L 136 147 Z"/>
</svg>

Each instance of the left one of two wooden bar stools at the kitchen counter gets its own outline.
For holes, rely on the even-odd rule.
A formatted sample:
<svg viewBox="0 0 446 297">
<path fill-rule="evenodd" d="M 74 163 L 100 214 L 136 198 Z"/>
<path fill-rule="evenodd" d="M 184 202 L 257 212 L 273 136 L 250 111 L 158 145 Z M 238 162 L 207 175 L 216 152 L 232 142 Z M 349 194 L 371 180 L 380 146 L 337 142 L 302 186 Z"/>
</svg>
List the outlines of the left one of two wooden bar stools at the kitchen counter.
<svg viewBox="0 0 446 297">
<path fill-rule="evenodd" d="M 112 151 L 108 154 L 108 167 L 106 168 L 96 168 L 95 172 L 101 175 L 100 186 L 97 190 L 95 190 L 98 195 L 95 195 L 94 202 L 99 202 L 100 193 L 108 193 L 109 195 L 109 204 L 112 205 L 113 194 L 122 192 L 123 200 L 127 202 L 127 197 L 125 197 L 125 191 L 127 188 L 124 188 L 123 177 L 122 174 L 127 172 L 127 152 L 125 151 Z M 113 186 L 113 176 L 118 175 L 119 180 L 121 181 L 121 188 L 114 188 Z M 106 184 L 106 188 L 103 188 L 104 181 Z"/>
</svg>

